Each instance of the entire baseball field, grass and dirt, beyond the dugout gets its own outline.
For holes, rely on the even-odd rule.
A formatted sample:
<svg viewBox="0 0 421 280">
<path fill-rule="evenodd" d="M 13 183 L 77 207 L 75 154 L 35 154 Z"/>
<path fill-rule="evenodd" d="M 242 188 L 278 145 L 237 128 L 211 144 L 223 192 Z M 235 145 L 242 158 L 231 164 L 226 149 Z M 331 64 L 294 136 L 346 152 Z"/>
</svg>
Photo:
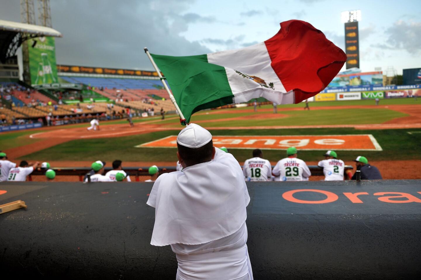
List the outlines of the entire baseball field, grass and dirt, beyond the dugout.
<svg viewBox="0 0 421 280">
<path fill-rule="evenodd" d="M 192 122 L 213 134 L 216 147 L 227 147 L 240 164 L 263 149 L 272 164 L 296 146 L 298 157 L 317 164 L 328 149 L 348 165 L 364 155 L 385 179 L 421 179 L 421 101 L 383 99 L 325 101 L 215 109 L 197 112 Z M 53 167 L 88 167 L 95 160 L 123 166 L 174 166 L 174 136 L 183 128 L 176 115 L 100 122 L 99 131 L 87 131 L 88 123 L 43 127 L 1 133 L 0 150 L 19 162 L 48 161 Z M 321 178 L 315 178 L 321 179 Z"/>
</svg>

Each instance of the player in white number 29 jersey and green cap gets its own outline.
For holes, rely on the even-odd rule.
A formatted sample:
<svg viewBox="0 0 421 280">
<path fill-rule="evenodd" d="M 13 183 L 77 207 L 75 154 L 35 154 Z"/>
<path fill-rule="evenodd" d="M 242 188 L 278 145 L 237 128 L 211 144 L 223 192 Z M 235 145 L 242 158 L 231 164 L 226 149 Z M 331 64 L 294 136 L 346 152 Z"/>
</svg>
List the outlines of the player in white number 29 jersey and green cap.
<svg viewBox="0 0 421 280">
<path fill-rule="evenodd" d="M 272 170 L 275 181 L 307 181 L 312 173 L 304 160 L 297 158 L 297 148 L 289 147 L 287 156 L 278 161 Z"/>
</svg>

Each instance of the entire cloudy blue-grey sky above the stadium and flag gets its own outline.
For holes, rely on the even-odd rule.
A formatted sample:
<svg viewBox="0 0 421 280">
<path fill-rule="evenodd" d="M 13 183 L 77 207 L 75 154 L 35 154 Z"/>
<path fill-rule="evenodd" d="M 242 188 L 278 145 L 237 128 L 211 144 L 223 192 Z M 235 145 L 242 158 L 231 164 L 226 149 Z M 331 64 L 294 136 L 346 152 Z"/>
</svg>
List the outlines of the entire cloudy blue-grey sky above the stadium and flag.
<svg viewBox="0 0 421 280">
<path fill-rule="evenodd" d="M 19 2 L 0 0 L 0 19 L 20 21 Z M 354 9 L 362 11 L 362 71 L 421 67 L 415 0 L 51 0 L 53 28 L 63 34 L 58 64 L 145 70 L 152 69 L 145 46 L 175 56 L 241 48 L 269 39 L 289 19 L 308 21 L 344 49 L 341 11 Z"/>
</svg>

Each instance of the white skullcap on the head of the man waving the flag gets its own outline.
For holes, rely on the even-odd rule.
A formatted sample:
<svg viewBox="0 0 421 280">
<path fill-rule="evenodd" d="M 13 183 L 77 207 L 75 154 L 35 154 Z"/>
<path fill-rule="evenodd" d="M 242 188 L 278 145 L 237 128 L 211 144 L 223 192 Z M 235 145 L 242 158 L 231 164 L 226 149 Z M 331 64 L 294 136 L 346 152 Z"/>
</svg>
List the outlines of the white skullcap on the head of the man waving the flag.
<svg viewBox="0 0 421 280">
<path fill-rule="evenodd" d="M 212 140 L 212 134 L 195 123 L 190 123 L 177 136 L 177 143 L 181 146 L 197 149 Z"/>
</svg>

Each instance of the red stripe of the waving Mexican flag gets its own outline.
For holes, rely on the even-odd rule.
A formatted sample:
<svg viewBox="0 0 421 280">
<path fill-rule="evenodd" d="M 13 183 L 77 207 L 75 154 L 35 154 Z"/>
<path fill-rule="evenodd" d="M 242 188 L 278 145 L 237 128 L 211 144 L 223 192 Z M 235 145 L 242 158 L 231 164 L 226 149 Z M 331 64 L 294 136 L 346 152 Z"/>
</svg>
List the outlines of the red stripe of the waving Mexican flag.
<svg viewBox="0 0 421 280">
<path fill-rule="evenodd" d="M 305 21 L 281 22 L 279 32 L 266 40 L 271 66 L 295 103 L 322 91 L 346 62 L 346 54 Z"/>
</svg>

